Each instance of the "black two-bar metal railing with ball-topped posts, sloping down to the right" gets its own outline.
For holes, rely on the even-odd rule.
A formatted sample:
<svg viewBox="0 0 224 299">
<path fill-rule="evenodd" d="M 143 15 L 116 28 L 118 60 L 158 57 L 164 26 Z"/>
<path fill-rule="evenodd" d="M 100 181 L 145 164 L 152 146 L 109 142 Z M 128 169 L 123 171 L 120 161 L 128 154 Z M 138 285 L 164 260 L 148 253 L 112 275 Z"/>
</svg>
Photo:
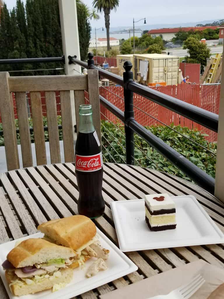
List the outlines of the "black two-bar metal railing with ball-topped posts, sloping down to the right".
<svg viewBox="0 0 224 299">
<path fill-rule="evenodd" d="M 133 81 L 133 72 L 131 71 L 131 62 L 125 62 L 123 73 L 123 80 L 121 77 L 112 74 L 108 71 L 97 68 L 94 65 L 93 54 L 88 54 L 88 63 L 77 60 L 75 57 L 69 56 L 70 63 L 81 65 L 84 68 L 97 69 L 99 74 L 105 78 L 121 85 L 124 87 L 124 98 L 125 98 L 125 112 L 118 109 L 115 105 L 110 103 L 104 97 L 100 95 L 100 102 L 114 115 L 116 115 L 122 122 L 125 123 L 125 141 L 126 141 L 126 163 L 134 164 L 134 132 L 142 137 L 150 146 L 160 152 L 165 158 L 167 158 L 172 164 L 178 167 L 184 172 L 189 178 L 191 178 L 199 186 L 214 194 L 215 180 L 209 176 L 205 171 L 201 170 L 187 158 L 182 156 L 179 152 L 168 146 L 162 139 L 158 138 L 145 127 L 140 125 L 134 119 L 133 111 L 133 92 L 136 92 L 149 100 L 158 103 L 178 114 L 185 116 L 202 126 L 205 126 L 215 132 L 218 130 L 218 115 L 208 112 L 204 109 L 198 108 L 194 105 L 185 103 L 181 100 L 177 100 L 173 97 L 162 94 L 161 92 L 154 91 L 144 87 Z"/>
</svg>

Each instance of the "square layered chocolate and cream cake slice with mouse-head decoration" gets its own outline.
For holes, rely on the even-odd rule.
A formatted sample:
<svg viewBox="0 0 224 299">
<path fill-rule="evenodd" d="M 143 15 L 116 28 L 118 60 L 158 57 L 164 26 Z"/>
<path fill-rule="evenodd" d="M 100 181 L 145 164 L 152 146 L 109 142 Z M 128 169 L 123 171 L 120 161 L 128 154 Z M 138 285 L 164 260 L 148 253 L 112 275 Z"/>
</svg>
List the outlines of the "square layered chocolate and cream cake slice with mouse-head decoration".
<svg viewBox="0 0 224 299">
<path fill-rule="evenodd" d="M 167 193 L 145 195 L 145 220 L 151 231 L 176 228 L 176 206 Z"/>
</svg>

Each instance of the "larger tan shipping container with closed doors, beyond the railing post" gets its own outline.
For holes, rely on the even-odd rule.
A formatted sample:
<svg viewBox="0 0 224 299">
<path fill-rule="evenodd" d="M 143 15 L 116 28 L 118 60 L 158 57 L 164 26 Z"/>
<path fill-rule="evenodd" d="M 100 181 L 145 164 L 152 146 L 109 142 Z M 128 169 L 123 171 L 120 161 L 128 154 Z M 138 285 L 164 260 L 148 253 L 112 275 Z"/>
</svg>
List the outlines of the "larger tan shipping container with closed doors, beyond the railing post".
<svg viewBox="0 0 224 299">
<path fill-rule="evenodd" d="M 134 54 L 134 79 L 139 83 L 178 83 L 179 57 L 165 54 Z"/>
</svg>

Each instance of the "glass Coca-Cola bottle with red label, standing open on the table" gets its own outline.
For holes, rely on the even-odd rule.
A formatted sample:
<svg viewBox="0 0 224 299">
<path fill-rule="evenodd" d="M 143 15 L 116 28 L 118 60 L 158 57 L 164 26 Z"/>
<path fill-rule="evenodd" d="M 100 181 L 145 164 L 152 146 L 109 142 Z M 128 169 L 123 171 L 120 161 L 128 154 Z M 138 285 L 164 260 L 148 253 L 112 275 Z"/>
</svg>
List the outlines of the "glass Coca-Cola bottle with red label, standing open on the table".
<svg viewBox="0 0 224 299">
<path fill-rule="evenodd" d="M 102 216 L 103 161 L 99 138 L 93 126 L 92 106 L 79 106 L 79 132 L 76 141 L 76 178 L 79 187 L 79 214 L 89 218 Z"/>
</svg>

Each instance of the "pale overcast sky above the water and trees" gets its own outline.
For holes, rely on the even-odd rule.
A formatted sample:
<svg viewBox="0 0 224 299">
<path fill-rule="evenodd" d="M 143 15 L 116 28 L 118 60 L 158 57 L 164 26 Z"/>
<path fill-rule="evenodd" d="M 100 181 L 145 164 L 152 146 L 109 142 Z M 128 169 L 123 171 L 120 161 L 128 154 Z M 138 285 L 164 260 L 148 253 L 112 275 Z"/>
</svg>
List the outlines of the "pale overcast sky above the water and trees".
<svg viewBox="0 0 224 299">
<path fill-rule="evenodd" d="M 16 4 L 16 0 L 4 1 L 9 9 L 12 9 Z M 23 1 L 24 3 L 26 2 L 26 0 Z M 83 2 L 92 7 L 92 0 L 83 0 Z M 120 0 L 116 13 L 111 12 L 110 23 L 111 27 L 132 27 L 133 17 L 135 20 L 146 17 L 148 25 L 199 22 L 203 20 L 223 19 L 223 12 L 223 0 L 216 0 L 215 7 L 211 0 Z M 143 21 L 140 21 L 138 25 L 143 25 Z M 91 21 L 91 26 L 105 26 L 104 16 L 101 15 L 98 21 Z"/>
</svg>

